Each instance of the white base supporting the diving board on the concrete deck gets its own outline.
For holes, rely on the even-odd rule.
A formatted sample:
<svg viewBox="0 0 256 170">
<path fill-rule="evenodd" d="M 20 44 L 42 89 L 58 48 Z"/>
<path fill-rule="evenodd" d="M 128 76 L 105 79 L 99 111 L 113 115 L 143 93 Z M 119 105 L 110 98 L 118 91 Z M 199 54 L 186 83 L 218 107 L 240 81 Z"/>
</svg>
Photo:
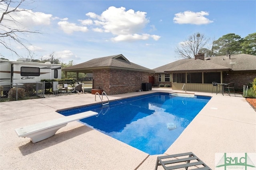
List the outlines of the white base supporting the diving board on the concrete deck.
<svg viewBox="0 0 256 170">
<path fill-rule="evenodd" d="M 52 137 L 53 135 L 55 135 L 55 133 L 62 127 L 66 126 L 68 123 L 65 123 L 63 125 L 59 125 L 59 126 L 56 126 L 56 127 L 52 127 L 52 128 L 49 128 L 49 129 L 45 129 L 43 131 L 39 131 L 39 132 L 36 132 L 36 133 L 32 133 L 30 135 L 27 135 L 26 137 L 30 138 L 31 142 L 32 143 L 36 143 L 36 142 L 39 142 L 39 141 L 42 141 L 44 139 L 47 139 L 49 137 Z M 24 137 L 25 138 L 25 137 Z"/>
</svg>

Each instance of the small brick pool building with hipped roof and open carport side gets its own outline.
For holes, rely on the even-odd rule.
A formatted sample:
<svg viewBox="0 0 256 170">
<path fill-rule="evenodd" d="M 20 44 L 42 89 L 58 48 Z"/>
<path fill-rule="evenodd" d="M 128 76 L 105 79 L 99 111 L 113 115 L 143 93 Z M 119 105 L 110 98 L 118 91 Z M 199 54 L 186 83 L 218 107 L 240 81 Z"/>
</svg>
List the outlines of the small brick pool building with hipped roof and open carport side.
<svg viewBox="0 0 256 170">
<path fill-rule="evenodd" d="M 92 88 L 106 94 L 122 94 L 142 89 L 148 83 L 148 74 L 154 70 L 134 64 L 122 54 L 101 57 L 62 69 L 65 72 L 93 74 Z"/>
</svg>

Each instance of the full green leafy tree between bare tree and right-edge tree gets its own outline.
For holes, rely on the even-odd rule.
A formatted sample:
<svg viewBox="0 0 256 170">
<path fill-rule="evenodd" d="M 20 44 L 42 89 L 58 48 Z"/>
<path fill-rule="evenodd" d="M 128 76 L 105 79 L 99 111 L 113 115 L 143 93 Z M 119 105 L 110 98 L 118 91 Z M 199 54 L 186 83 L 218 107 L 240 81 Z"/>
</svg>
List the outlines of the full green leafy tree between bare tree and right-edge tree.
<svg viewBox="0 0 256 170">
<path fill-rule="evenodd" d="M 218 40 L 214 41 L 214 49 L 216 55 L 232 55 L 242 53 L 241 43 L 243 39 L 240 35 L 228 33 L 223 35 Z"/>
</svg>

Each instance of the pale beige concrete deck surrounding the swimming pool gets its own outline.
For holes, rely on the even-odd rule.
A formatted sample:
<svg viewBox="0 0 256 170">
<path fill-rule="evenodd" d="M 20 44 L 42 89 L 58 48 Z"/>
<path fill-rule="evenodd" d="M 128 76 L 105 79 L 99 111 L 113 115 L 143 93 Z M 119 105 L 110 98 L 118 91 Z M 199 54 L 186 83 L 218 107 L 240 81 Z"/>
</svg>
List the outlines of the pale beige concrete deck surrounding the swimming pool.
<svg viewBox="0 0 256 170">
<path fill-rule="evenodd" d="M 170 88 L 108 96 L 110 100 Z M 182 92 L 182 91 L 176 91 Z M 188 92 L 213 96 L 180 137 L 162 155 L 193 152 L 212 169 L 215 153 L 256 152 L 256 111 L 240 94 Z M 56 135 L 32 143 L 15 129 L 62 117 L 56 110 L 100 102 L 92 94 L 59 96 L 0 103 L 0 169 L 153 170 L 156 157 L 148 155 L 77 121 Z M 163 168 L 158 167 L 159 170 Z"/>
</svg>

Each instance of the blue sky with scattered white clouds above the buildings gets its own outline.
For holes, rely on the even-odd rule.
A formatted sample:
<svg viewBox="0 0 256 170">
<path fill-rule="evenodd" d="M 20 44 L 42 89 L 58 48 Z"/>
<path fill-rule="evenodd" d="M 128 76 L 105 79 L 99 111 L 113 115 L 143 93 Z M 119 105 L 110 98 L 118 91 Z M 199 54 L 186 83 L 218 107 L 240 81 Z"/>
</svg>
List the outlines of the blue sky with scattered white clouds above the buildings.
<svg viewBox="0 0 256 170">
<path fill-rule="evenodd" d="M 218 39 L 256 32 L 255 0 L 36 0 L 12 14 L 22 27 L 33 59 L 54 57 L 84 63 L 122 54 L 130 62 L 154 69 L 180 58 L 175 48 L 194 33 Z M 2 16 L 2 11 L 0 11 Z M 0 30 L 2 32 L 2 30 Z M 23 58 L 24 48 L 7 38 Z M 18 57 L 0 44 L 1 57 Z"/>
</svg>

